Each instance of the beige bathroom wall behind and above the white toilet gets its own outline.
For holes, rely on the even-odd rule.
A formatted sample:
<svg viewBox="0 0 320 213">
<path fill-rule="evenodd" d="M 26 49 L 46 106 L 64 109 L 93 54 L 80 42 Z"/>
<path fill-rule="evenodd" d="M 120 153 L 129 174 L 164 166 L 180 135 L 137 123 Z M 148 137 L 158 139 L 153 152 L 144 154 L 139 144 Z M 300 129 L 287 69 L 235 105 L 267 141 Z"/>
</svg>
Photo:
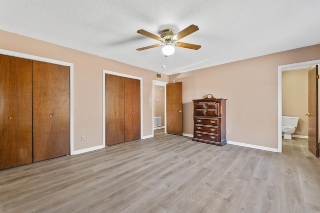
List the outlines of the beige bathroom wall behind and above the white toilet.
<svg viewBox="0 0 320 213">
<path fill-rule="evenodd" d="M 282 115 L 299 117 L 293 135 L 308 136 L 308 70 L 282 72 Z"/>
</svg>

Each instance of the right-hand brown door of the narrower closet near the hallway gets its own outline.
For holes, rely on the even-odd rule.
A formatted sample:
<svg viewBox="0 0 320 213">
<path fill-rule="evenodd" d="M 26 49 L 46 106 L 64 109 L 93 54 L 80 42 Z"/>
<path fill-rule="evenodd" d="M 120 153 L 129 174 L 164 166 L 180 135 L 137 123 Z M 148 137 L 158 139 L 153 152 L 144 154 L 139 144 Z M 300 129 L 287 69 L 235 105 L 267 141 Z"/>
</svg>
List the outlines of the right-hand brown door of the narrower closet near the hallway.
<svg viewBox="0 0 320 213">
<path fill-rule="evenodd" d="M 140 80 L 124 78 L 124 141 L 140 138 Z"/>
</svg>

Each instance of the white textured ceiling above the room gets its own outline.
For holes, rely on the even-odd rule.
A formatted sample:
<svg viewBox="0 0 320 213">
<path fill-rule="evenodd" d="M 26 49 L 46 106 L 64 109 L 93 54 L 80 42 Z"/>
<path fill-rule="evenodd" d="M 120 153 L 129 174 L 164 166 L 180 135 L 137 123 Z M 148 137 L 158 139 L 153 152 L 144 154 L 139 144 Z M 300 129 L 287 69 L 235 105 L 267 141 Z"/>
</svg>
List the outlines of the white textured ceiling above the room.
<svg viewBox="0 0 320 213">
<path fill-rule="evenodd" d="M 135 50 L 190 24 L 199 50 Z M 174 74 L 320 43 L 320 0 L 0 0 L 0 29 Z"/>
</svg>

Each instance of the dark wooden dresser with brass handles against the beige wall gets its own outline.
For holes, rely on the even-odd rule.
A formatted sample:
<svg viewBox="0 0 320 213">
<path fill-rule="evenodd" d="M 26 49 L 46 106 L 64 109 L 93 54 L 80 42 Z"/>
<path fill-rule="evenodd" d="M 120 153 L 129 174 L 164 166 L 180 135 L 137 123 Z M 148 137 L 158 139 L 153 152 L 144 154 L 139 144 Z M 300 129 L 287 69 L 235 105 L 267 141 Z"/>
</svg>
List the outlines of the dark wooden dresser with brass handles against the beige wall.
<svg viewBox="0 0 320 213">
<path fill-rule="evenodd" d="M 193 141 L 223 146 L 225 140 L 225 101 L 223 98 L 193 101 Z"/>
</svg>

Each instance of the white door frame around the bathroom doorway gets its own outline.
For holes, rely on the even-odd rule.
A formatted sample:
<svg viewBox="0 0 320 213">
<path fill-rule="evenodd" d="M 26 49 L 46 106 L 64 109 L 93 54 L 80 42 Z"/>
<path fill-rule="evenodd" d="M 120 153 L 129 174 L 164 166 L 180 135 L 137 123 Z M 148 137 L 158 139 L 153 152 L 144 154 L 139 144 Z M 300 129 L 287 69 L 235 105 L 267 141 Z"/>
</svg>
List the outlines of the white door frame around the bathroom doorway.
<svg viewBox="0 0 320 213">
<path fill-rule="evenodd" d="M 277 95 L 278 95 L 278 126 L 277 126 L 277 132 L 278 132 L 278 149 L 277 152 L 282 152 L 282 71 L 285 71 L 285 69 L 288 68 L 294 68 L 299 66 L 310 66 L 314 64 L 320 64 L 320 59 L 313 60 L 313 61 L 304 61 L 299 63 L 293 63 L 293 64 L 285 64 L 278 66 L 277 71 Z M 319 140 L 319 139 L 318 139 Z"/>
</svg>

